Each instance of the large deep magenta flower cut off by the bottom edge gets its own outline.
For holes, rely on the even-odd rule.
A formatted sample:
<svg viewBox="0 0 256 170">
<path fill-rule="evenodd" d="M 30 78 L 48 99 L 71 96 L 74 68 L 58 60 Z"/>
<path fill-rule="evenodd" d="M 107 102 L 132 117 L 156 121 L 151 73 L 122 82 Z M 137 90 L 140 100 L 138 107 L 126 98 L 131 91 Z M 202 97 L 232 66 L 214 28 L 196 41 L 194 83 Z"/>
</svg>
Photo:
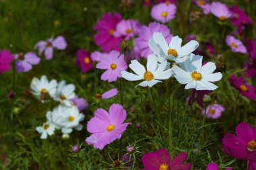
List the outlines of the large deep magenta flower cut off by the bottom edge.
<svg viewBox="0 0 256 170">
<path fill-rule="evenodd" d="M 191 163 L 183 163 L 187 157 L 187 153 L 180 153 L 170 161 L 170 154 L 166 149 L 158 149 L 154 153 L 146 153 L 142 156 L 141 161 L 144 170 L 167 170 L 167 169 L 182 169 L 189 170 Z"/>
</svg>

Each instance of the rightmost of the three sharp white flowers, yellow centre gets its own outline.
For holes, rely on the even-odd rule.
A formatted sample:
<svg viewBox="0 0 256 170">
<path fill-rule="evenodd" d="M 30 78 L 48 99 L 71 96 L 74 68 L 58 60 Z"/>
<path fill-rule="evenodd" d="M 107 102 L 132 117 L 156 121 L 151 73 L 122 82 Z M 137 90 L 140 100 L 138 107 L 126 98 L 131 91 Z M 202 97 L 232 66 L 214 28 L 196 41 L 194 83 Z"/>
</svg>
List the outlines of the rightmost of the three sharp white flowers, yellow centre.
<svg viewBox="0 0 256 170">
<path fill-rule="evenodd" d="M 207 62 L 202 67 L 202 56 L 197 56 L 197 60 L 190 61 L 187 59 L 184 62 L 185 70 L 174 65 L 173 71 L 174 77 L 181 84 L 187 84 L 185 89 L 196 89 L 196 90 L 214 90 L 218 86 L 210 82 L 219 81 L 222 79 L 221 73 L 214 73 L 216 65 L 214 62 Z"/>
</svg>

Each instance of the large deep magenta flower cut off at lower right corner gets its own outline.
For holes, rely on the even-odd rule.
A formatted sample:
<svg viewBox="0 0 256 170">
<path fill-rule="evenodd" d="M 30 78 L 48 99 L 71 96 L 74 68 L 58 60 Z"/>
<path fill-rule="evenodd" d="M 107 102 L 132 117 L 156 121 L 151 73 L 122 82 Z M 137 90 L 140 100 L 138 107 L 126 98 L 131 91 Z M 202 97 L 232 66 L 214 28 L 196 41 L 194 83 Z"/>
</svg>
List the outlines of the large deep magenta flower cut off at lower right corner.
<svg viewBox="0 0 256 170">
<path fill-rule="evenodd" d="M 222 139 L 224 151 L 236 159 L 256 161 L 256 126 L 242 122 L 236 126 L 236 135 L 228 132 Z"/>
</svg>

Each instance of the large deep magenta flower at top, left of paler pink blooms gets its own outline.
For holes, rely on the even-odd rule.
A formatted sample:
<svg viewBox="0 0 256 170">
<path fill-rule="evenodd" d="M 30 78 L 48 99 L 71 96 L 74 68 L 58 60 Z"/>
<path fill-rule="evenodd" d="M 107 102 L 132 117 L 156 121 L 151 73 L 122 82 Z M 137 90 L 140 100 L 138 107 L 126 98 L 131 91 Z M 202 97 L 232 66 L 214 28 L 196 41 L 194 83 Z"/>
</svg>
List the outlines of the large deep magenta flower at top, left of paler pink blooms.
<svg viewBox="0 0 256 170">
<path fill-rule="evenodd" d="M 110 50 L 120 51 L 121 37 L 115 37 L 117 24 L 121 22 L 122 16 L 119 13 L 104 13 L 102 19 L 98 20 L 94 30 L 97 32 L 94 35 L 94 41 L 97 46 L 100 46 L 103 52 Z"/>
</svg>

